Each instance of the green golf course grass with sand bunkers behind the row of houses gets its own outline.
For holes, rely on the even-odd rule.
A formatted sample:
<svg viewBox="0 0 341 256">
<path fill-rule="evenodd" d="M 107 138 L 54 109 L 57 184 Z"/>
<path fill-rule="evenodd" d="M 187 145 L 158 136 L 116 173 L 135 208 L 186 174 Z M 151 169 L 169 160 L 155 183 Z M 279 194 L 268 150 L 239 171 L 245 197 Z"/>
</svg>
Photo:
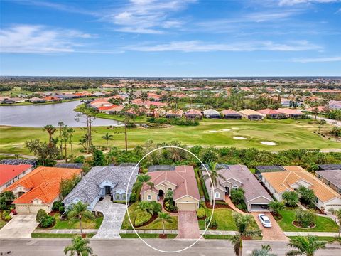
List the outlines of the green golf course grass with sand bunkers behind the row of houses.
<svg viewBox="0 0 341 256">
<path fill-rule="evenodd" d="M 325 125 L 322 131 L 331 129 Z M 128 146 L 144 144 L 149 139 L 156 143 L 179 141 L 183 144 L 201 146 L 233 146 L 238 149 L 255 147 L 270 151 L 281 149 L 340 149 L 339 142 L 323 139 L 313 132 L 318 130 L 318 124 L 309 120 L 264 120 L 253 122 L 249 120 L 207 120 L 204 119 L 197 127 L 174 126 L 169 128 L 136 128 L 128 131 Z M 75 129 L 73 148 L 79 153 L 82 146 L 78 144 L 84 131 Z M 92 132 L 93 144 L 103 146 L 104 134 L 114 135 L 109 146 L 124 149 L 124 128 L 94 127 Z M 56 133 L 55 136 L 58 136 Z M 234 136 L 246 137 L 245 140 L 233 139 Z M 0 127 L 0 152 L 30 154 L 25 142 L 31 139 L 48 140 L 48 133 L 33 127 Z M 262 141 L 275 142 L 276 146 L 266 146 Z"/>
</svg>

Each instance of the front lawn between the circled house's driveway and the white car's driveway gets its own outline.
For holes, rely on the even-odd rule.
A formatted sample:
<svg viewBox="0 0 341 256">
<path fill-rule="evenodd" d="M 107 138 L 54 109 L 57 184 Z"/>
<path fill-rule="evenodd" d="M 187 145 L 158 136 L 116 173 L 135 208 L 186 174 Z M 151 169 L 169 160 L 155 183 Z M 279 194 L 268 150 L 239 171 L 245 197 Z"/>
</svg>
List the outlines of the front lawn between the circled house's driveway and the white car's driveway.
<svg viewBox="0 0 341 256">
<path fill-rule="evenodd" d="M 210 217 L 212 214 L 212 210 L 209 208 L 205 208 L 206 216 Z M 233 210 L 229 208 L 219 208 L 215 209 L 213 213 L 213 218 L 217 221 L 218 228 L 217 230 L 237 230 L 236 225 L 234 224 L 234 220 L 232 218 Z M 256 221 L 252 218 L 251 220 L 251 228 L 258 228 Z M 205 230 L 205 220 L 199 220 L 199 228 L 200 230 Z M 210 230 L 210 228 L 209 228 Z"/>
</svg>

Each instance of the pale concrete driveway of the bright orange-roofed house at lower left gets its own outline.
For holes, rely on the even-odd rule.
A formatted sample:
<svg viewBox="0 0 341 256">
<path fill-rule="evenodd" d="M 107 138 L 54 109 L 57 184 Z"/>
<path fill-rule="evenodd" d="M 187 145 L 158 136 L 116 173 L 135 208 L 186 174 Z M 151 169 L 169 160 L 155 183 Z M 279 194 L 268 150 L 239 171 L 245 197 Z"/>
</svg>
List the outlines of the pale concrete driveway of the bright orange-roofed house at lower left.
<svg viewBox="0 0 341 256">
<path fill-rule="evenodd" d="M 36 214 L 19 213 L 0 229 L 0 238 L 31 238 L 37 226 Z"/>
</svg>

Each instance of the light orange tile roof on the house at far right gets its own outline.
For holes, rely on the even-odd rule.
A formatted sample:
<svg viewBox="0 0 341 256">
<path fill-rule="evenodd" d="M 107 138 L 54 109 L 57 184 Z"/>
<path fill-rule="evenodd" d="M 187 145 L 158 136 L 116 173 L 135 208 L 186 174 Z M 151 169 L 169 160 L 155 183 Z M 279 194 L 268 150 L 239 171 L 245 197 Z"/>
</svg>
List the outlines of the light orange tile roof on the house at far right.
<svg viewBox="0 0 341 256">
<path fill-rule="evenodd" d="M 298 181 L 305 181 L 311 184 L 310 188 L 313 189 L 315 196 L 320 201 L 330 201 L 332 198 L 341 198 L 341 196 L 326 186 L 318 178 L 305 171 L 300 166 L 284 166 L 287 171 L 274 171 L 261 174 L 266 181 L 276 190 L 277 193 L 284 191 L 293 191 L 291 185 Z"/>
</svg>

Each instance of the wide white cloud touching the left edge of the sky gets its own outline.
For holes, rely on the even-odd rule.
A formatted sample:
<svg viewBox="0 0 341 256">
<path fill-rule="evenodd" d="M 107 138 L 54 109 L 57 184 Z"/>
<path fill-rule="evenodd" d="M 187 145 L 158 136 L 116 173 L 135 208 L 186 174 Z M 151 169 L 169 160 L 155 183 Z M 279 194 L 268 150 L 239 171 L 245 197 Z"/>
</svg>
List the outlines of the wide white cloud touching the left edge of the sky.
<svg viewBox="0 0 341 256">
<path fill-rule="evenodd" d="M 75 30 L 45 26 L 16 25 L 0 30 L 2 53 L 71 53 L 81 46 L 77 39 L 91 35 Z"/>
</svg>

